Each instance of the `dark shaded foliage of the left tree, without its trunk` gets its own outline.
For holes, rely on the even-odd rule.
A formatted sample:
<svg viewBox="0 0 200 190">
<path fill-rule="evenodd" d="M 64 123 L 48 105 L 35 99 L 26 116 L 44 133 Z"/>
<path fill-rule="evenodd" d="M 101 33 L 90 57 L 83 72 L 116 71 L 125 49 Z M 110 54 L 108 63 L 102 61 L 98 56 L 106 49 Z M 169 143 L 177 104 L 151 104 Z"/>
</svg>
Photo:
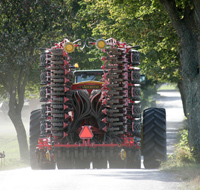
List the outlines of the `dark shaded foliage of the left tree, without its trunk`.
<svg viewBox="0 0 200 190">
<path fill-rule="evenodd" d="M 30 81 L 38 80 L 34 73 L 38 70 L 35 64 L 39 62 L 39 48 L 52 45 L 58 36 L 61 39 L 60 34 L 67 29 L 63 23 L 71 10 L 65 3 L 1 1 L 0 83 L 6 91 L 10 91 L 9 83 L 24 86 L 22 83 L 27 82 L 29 73 L 33 74 Z"/>
</svg>

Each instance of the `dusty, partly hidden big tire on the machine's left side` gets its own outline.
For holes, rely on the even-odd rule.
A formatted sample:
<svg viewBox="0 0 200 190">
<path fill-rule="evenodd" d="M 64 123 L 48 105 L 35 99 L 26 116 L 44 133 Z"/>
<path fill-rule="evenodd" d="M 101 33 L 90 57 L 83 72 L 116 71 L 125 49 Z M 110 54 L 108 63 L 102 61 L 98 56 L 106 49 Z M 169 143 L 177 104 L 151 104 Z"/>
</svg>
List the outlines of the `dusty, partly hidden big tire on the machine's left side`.
<svg viewBox="0 0 200 190">
<path fill-rule="evenodd" d="M 30 129 L 29 129 L 29 148 L 30 148 L 30 165 L 33 170 L 40 169 L 40 164 L 36 157 L 36 146 L 40 136 L 40 115 L 41 110 L 34 110 L 30 116 Z"/>
</svg>

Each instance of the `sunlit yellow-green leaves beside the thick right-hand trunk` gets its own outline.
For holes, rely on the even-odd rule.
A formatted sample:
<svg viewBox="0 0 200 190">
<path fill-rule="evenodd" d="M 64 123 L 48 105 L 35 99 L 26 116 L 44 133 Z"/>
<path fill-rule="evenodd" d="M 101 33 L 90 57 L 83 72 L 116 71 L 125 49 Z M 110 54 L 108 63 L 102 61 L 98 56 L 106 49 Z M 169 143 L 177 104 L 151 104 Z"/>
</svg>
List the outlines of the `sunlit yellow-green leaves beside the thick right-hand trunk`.
<svg viewBox="0 0 200 190">
<path fill-rule="evenodd" d="M 158 1 L 95 0 L 85 2 L 85 6 L 83 12 L 93 36 L 140 45 L 141 68 L 148 78 L 180 80 L 179 39 Z"/>
</svg>

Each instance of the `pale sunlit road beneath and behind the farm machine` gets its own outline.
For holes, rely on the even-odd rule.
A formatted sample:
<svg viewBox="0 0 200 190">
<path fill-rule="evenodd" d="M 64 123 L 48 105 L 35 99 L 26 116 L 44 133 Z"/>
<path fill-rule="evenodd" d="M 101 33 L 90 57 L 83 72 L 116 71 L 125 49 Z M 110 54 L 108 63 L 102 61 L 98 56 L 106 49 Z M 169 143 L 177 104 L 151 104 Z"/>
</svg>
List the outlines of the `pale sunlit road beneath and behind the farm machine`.
<svg viewBox="0 0 200 190">
<path fill-rule="evenodd" d="M 183 120 L 180 95 L 175 91 L 159 92 L 157 101 L 158 107 L 166 108 L 167 150 L 171 154 Z M 157 169 L 0 171 L 1 190 L 176 190 L 180 186 L 176 176 Z"/>
</svg>

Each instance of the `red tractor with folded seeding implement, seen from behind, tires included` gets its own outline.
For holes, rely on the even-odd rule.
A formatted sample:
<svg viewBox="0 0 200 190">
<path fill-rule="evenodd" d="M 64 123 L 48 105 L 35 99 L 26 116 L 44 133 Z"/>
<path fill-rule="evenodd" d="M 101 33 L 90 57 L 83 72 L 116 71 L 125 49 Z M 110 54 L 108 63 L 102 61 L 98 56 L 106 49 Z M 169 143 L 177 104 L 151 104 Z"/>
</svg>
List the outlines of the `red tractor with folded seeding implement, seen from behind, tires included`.
<svg viewBox="0 0 200 190">
<path fill-rule="evenodd" d="M 139 52 L 113 38 L 93 41 L 107 53 L 102 70 L 73 72 L 76 42 L 41 53 L 44 104 L 30 116 L 31 168 L 140 168 L 141 153 L 145 168 L 157 168 L 166 157 L 166 116 L 145 109 L 141 129 Z"/>
</svg>

